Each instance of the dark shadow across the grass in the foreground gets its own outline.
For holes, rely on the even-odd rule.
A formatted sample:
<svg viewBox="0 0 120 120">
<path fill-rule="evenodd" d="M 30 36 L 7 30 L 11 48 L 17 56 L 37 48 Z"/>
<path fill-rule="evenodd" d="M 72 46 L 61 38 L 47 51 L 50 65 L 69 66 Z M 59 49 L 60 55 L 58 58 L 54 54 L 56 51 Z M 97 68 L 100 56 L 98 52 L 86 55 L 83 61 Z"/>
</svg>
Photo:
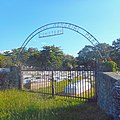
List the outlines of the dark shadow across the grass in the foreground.
<svg viewBox="0 0 120 120">
<path fill-rule="evenodd" d="M 112 120 L 100 110 L 96 102 L 42 110 L 30 107 L 26 111 L 22 111 L 21 115 L 13 120 Z"/>
</svg>

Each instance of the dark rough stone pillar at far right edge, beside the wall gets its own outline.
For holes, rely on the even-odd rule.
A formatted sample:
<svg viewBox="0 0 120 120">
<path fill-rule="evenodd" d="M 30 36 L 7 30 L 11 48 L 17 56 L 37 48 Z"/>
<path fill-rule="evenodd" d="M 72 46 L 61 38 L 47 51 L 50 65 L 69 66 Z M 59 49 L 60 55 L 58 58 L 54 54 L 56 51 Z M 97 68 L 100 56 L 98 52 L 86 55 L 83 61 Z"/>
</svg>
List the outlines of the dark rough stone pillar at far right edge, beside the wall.
<svg viewBox="0 0 120 120">
<path fill-rule="evenodd" d="M 120 80 L 113 87 L 113 116 L 114 120 L 120 120 Z"/>
</svg>

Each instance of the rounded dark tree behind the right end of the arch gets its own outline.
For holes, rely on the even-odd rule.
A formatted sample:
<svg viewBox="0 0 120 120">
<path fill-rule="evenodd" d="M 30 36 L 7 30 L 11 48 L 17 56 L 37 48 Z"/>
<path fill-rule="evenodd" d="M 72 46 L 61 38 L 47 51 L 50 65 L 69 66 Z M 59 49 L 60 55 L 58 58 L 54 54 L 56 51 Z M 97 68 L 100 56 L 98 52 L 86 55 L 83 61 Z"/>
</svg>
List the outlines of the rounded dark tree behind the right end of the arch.
<svg viewBox="0 0 120 120">
<path fill-rule="evenodd" d="M 106 43 L 100 43 L 94 47 L 87 45 L 78 53 L 77 57 L 78 65 L 81 64 L 87 65 L 93 63 L 94 61 L 99 61 L 101 60 L 100 54 L 103 57 L 102 59 L 109 59 L 112 50 L 113 50 L 112 46 Z"/>
</svg>

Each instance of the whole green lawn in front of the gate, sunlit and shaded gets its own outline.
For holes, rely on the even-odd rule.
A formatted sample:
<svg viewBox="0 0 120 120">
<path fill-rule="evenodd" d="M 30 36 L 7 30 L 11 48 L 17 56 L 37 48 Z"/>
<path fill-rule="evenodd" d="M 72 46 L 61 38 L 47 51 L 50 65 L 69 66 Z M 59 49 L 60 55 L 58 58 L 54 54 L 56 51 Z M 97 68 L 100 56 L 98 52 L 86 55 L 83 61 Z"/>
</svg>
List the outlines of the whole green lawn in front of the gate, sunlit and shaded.
<svg viewBox="0 0 120 120">
<path fill-rule="evenodd" d="M 0 91 L 0 120 L 110 120 L 96 103 L 43 96 L 19 90 Z"/>
</svg>

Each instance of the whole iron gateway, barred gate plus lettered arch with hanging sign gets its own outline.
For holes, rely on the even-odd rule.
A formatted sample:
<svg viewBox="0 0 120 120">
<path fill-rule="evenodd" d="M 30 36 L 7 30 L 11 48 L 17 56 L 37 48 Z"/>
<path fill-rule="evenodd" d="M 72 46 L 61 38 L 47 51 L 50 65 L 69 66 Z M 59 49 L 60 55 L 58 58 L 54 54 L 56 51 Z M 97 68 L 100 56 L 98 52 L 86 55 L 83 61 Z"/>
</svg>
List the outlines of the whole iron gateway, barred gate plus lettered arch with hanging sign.
<svg viewBox="0 0 120 120">
<path fill-rule="evenodd" d="M 33 31 L 23 42 L 20 55 L 27 44 L 37 35 L 39 38 L 56 36 L 63 34 L 64 29 L 77 32 L 86 38 L 96 49 L 101 59 L 103 55 L 96 45 L 98 40 L 87 30 L 80 26 L 66 22 L 55 22 L 46 24 Z M 54 31 L 51 31 L 54 30 Z M 100 49 L 102 49 L 100 45 Z M 50 94 L 52 96 L 61 95 L 81 99 L 90 99 L 96 93 L 96 68 L 91 65 L 81 65 L 74 70 L 41 70 L 39 68 L 25 67 L 21 70 L 22 86 L 24 90 Z"/>
</svg>

